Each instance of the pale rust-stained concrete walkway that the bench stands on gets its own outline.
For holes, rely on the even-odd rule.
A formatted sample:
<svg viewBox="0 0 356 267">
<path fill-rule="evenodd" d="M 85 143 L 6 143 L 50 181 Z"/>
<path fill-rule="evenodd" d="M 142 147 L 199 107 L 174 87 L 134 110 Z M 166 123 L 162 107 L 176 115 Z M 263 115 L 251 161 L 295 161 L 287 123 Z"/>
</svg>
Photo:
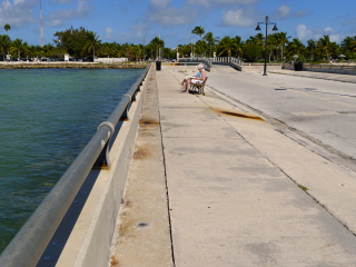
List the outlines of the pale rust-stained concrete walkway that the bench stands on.
<svg viewBox="0 0 356 267">
<path fill-rule="evenodd" d="M 214 70 L 181 93 L 194 70 L 149 77 L 109 266 L 356 266 L 355 172 L 209 88 Z"/>
</svg>

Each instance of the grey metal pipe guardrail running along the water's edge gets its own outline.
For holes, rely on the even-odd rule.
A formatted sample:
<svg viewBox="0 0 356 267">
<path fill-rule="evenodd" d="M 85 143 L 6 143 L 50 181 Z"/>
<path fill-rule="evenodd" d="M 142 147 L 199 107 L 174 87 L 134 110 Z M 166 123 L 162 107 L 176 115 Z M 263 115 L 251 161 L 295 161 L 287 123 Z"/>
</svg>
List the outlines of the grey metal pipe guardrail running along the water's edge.
<svg viewBox="0 0 356 267">
<path fill-rule="evenodd" d="M 107 121 L 99 126 L 96 135 L 3 250 L 1 267 L 36 266 L 92 167 L 109 167 L 109 140 L 116 125 L 128 119 L 130 103 L 135 101 L 149 68 L 122 97 Z"/>
</svg>

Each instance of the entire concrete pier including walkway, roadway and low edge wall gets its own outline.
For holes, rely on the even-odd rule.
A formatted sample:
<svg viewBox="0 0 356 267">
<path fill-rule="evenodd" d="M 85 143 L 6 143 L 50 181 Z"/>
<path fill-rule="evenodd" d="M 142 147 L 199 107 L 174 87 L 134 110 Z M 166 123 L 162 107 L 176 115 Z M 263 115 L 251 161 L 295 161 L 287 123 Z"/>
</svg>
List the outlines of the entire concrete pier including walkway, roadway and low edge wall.
<svg viewBox="0 0 356 267">
<path fill-rule="evenodd" d="M 90 170 L 68 240 L 39 266 L 355 266 L 355 76 L 214 66 L 205 96 L 182 93 L 196 71 L 154 65 L 132 87 L 110 167 Z M 339 147 L 317 139 L 326 119 Z"/>
</svg>

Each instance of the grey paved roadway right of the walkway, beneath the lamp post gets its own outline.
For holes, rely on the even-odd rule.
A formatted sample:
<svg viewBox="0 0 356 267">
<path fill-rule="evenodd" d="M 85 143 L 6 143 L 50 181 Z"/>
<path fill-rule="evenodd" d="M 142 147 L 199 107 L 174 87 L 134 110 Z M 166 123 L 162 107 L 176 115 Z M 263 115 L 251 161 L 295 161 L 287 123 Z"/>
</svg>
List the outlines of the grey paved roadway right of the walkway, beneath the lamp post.
<svg viewBox="0 0 356 267">
<path fill-rule="evenodd" d="M 335 81 L 337 79 L 350 82 Z M 276 68 L 268 76 L 261 76 L 261 71 L 238 72 L 220 66 L 209 73 L 209 87 L 266 118 L 286 123 L 329 151 L 355 160 L 356 83 L 353 82 L 356 79 L 350 76 Z"/>
</svg>

